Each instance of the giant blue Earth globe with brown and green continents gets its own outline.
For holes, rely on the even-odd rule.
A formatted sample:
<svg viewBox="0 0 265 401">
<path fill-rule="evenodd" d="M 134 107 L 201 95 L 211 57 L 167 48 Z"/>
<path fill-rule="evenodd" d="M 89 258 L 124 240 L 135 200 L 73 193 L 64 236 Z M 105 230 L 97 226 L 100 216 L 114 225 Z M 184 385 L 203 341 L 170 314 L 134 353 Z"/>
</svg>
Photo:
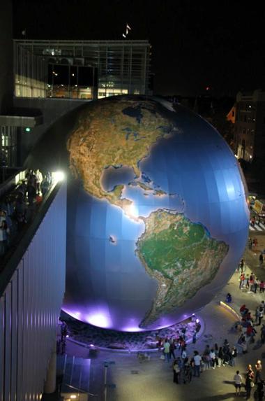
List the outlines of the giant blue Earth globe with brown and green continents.
<svg viewBox="0 0 265 401">
<path fill-rule="evenodd" d="M 196 313 L 227 283 L 248 238 L 238 162 L 199 115 L 123 96 L 58 120 L 28 167 L 68 171 L 63 310 L 122 331 Z"/>
</svg>

